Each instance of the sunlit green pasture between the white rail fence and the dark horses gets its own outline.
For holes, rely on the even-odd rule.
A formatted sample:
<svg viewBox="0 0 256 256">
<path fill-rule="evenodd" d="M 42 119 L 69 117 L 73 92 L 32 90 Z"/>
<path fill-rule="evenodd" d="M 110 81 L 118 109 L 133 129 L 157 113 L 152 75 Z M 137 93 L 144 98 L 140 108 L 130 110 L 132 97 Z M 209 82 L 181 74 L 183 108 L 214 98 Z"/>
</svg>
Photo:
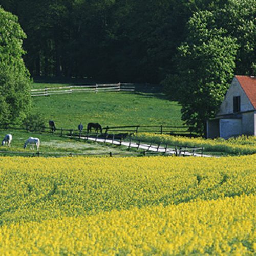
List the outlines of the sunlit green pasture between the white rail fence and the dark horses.
<svg viewBox="0 0 256 256">
<path fill-rule="evenodd" d="M 34 83 L 33 88 L 65 84 Z M 66 84 L 69 85 L 69 84 Z M 33 112 L 54 120 L 57 128 L 77 129 L 80 122 L 103 127 L 119 125 L 182 125 L 177 102 L 168 101 L 160 87 L 136 86 L 135 92 L 84 92 L 33 97 Z"/>
</svg>

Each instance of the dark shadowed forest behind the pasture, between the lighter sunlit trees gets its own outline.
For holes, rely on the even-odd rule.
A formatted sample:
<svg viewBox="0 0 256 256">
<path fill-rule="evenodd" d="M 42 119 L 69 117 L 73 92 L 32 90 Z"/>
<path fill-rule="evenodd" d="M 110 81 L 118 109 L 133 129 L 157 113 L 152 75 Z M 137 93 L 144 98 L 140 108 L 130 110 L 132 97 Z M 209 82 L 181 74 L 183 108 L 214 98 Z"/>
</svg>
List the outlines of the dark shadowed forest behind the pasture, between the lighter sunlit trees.
<svg viewBox="0 0 256 256">
<path fill-rule="evenodd" d="M 147 82 L 159 82 L 173 70 L 189 17 L 198 9 L 211 9 L 214 2 L 0 1 L 27 34 L 25 63 L 32 76 Z"/>
</svg>

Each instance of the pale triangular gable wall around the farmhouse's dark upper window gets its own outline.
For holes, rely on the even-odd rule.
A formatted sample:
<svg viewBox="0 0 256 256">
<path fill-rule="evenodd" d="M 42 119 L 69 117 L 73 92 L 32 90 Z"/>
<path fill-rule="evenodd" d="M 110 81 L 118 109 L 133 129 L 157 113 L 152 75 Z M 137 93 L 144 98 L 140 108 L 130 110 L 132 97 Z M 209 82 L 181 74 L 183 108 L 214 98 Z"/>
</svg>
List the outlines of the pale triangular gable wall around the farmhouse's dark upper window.
<svg viewBox="0 0 256 256">
<path fill-rule="evenodd" d="M 244 90 L 241 88 L 240 83 L 235 77 L 221 103 L 220 110 L 217 115 L 225 115 L 233 113 L 233 97 L 240 96 L 241 112 L 254 110 L 251 102 L 246 96 Z"/>
</svg>

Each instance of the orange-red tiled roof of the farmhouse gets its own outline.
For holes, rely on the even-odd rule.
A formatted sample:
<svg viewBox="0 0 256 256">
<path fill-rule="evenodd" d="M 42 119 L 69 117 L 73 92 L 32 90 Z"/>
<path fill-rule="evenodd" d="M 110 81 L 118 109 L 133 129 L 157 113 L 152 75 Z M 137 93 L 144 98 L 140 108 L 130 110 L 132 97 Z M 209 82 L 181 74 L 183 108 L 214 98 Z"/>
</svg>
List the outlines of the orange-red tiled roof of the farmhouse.
<svg viewBox="0 0 256 256">
<path fill-rule="evenodd" d="M 253 108 L 256 109 L 256 77 L 235 76 L 250 100 Z"/>
</svg>

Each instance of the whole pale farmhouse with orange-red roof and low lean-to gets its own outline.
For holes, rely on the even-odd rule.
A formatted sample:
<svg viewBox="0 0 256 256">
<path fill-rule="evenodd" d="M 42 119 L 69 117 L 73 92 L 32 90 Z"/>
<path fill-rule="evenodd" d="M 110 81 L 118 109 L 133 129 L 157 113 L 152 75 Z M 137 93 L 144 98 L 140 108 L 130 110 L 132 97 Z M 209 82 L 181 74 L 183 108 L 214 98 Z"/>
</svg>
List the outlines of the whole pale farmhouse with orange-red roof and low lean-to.
<svg viewBox="0 0 256 256">
<path fill-rule="evenodd" d="M 256 78 L 235 76 L 215 118 L 207 120 L 207 138 L 256 135 Z"/>
</svg>

